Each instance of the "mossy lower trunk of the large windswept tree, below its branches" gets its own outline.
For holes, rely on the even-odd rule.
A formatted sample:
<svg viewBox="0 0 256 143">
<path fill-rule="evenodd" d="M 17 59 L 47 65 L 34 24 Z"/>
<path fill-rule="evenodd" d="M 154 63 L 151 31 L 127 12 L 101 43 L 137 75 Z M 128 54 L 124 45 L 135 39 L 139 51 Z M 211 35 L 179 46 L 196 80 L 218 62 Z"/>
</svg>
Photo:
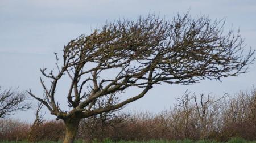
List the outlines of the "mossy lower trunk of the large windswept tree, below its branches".
<svg viewBox="0 0 256 143">
<path fill-rule="evenodd" d="M 80 119 L 65 120 L 65 138 L 63 143 L 73 143 L 76 137 Z"/>
</svg>

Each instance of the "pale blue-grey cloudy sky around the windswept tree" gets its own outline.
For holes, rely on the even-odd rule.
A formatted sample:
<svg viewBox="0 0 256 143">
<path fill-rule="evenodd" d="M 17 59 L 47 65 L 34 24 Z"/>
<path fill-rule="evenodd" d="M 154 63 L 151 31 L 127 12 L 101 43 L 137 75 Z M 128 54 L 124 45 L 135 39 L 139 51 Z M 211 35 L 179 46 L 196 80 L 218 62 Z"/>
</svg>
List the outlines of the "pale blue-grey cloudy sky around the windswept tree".
<svg viewBox="0 0 256 143">
<path fill-rule="evenodd" d="M 191 16 L 208 15 L 210 19 L 226 19 L 225 29 L 240 29 L 246 48 L 256 49 L 256 1 L 254 0 L 0 0 L 0 86 L 24 92 L 31 89 L 43 93 L 40 86 L 40 68 L 53 67 L 54 52 L 81 34 L 90 34 L 94 28 L 114 19 L 137 19 L 149 13 L 171 19 L 177 13 L 189 11 Z M 256 86 L 256 64 L 249 72 L 220 81 L 204 80 L 192 86 L 157 85 L 145 97 L 130 103 L 123 111 L 160 112 L 170 109 L 185 90 L 196 94 L 230 96 Z M 65 102 L 68 81 L 58 85 L 57 99 Z M 125 93 L 129 94 L 129 93 Z M 35 101 L 31 99 L 35 105 Z M 64 105 L 64 103 L 63 103 Z M 46 112 L 46 119 L 53 119 Z M 31 122 L 34 110 L 17 112 L 12 118 Z"/>
</svg>

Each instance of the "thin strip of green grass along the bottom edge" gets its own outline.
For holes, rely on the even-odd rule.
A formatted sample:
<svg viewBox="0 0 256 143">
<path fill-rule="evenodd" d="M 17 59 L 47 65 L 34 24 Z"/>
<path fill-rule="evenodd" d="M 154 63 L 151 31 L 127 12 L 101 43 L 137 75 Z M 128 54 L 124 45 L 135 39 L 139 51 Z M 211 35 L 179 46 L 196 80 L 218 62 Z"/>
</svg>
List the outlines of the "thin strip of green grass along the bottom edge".
<svg viewBox="0 0 256 143">
<path fill-rule="evenodd" d="M 27 141 L 0 141 L 0 143 L 28 143 Z M 42 141 L 37 143 L 61 143 L 61 141 L 54 142 L 54 141 Z M 76 141 L 75 143 L 83 143 L 81 141 Z M 98 142 L 93 142 L 98 143 Z M 111 140 L 105 140 L 101 143 L 114 143 Z M 210 140 L 199 140 L 199 141 L 192 141 L 192 140 L 179 140 L 179 141 L 166 141 L 166 140 L 151 140 L 151 141 L 118 141 L 115 143 L 221 143 L 217 141 L 210 141 Z M 246 141 L 242 138 L 232 138 L 226 143 L 256 143 L 256 141 Z"/>
</svg>

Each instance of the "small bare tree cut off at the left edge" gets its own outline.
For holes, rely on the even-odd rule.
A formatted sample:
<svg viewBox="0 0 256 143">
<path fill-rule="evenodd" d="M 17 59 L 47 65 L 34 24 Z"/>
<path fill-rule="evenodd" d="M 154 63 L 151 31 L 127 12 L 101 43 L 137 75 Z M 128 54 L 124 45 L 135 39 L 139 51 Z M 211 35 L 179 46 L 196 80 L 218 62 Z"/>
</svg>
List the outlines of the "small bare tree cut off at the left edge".
<svg viewBox="0 0 256 143">
<path fill-rule="evenodd" d="M 26 92 L 19 93 L 12 89 L 1 90 L 0 86 L 0 118 L 15 114 L 18 110 L 27 110 L 30 103 L 25 102 Z"/>
</svg>

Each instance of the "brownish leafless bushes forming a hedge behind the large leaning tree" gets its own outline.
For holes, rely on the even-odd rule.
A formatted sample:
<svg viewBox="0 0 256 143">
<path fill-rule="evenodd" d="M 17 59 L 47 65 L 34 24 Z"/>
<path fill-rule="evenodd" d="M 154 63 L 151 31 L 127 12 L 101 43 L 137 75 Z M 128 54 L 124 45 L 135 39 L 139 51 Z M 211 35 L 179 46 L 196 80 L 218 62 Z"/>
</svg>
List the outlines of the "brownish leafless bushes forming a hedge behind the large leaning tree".
<svg viewBox="0 0 256 143">
<path fill-rule="evenodd" d="M 103 142 L 108 138 L 114 142 L 167 142 L 187 139 L 226 142 L 241 137 L 253 141 L 256 140 L 255 111 L 255 89 L 233 97 L 224 95 L 218 99 L 186 92 L 177 98 L 172 109 L 159 114 L 104 112 L 83 119 L 76 140 Z M 0 120 L 0 141 L 50 142 L 61 141 L 64 136 L 65 125 L 60 120 L 42 121 L 33 125 L 10 119 Z"/>
</svg>

